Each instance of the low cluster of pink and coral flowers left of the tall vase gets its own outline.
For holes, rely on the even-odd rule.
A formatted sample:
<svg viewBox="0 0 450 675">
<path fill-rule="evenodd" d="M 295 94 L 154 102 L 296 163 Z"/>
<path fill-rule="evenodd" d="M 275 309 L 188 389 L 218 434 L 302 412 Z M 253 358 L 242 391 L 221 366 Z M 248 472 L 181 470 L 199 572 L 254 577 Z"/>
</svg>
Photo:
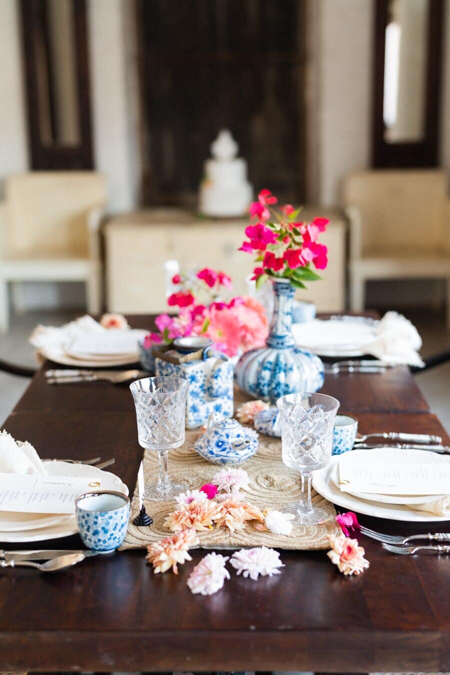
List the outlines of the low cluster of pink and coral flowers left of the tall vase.
<svg viewBox="0 0 450 675">
<path fill-rule="evenodd" d="M 179 308 L 178 315 L 161 314 L 155 319 L 159 332 L 146 336 L 145 349 L 189 335 L 210 338 L 214 348 L 227 356 L 265 344 L 269 326 L 264 307 L 247 296 L 223 302 L 221 293 L 231 290 L 231 279 L 224 272 L 205 267 L 195 275 L 175 275 L 172 284 L 175 292 L 167 298 L 167 304 Z"/>
</svg>

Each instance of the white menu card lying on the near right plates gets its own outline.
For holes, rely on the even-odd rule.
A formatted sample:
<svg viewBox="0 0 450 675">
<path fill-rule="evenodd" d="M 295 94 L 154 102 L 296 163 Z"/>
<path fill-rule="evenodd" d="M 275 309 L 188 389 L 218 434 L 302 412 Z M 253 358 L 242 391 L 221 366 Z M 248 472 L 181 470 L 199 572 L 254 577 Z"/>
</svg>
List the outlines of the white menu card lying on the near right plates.
<svg viewBox="0 0 450 675">
<path fill-rule="evenodd" d="M 450 493 L 450 462 L 399 464 L 342 458 L 339 461 L 342 492 L 385 495 L 446 495 Z"/>
</svg>

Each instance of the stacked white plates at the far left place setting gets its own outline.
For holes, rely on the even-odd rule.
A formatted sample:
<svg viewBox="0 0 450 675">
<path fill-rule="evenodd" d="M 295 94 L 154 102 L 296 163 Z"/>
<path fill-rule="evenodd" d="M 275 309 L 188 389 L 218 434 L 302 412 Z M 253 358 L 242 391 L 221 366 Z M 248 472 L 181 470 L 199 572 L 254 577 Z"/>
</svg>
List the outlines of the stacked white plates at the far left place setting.
<svg viewBox="0 0 450 675">
<path fill-rule="evenodd" d="M 113 329 L 86 331 L 60 347 L 44 347 L 40 353 L 56 363 L 78 368 L 111 368 L 129 365 L 139 360 L 138 342 L 148 331 L 142 329 Z"/>
</svg>

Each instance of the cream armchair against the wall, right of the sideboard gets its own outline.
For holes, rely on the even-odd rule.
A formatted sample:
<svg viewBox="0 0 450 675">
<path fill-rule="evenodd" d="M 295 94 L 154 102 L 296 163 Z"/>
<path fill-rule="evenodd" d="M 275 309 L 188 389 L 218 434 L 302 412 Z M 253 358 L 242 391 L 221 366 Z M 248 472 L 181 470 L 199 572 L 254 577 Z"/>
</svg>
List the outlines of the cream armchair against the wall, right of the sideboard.
<svg viewBox="0 0 450 675">
<path fill-rule="evenodd" d="M 347 176 L 350 306 L 364 309 L 368 279 L 447 279 L 450 327 L 450 201 L 438 169 L 374 169 Z"/>
</svg>

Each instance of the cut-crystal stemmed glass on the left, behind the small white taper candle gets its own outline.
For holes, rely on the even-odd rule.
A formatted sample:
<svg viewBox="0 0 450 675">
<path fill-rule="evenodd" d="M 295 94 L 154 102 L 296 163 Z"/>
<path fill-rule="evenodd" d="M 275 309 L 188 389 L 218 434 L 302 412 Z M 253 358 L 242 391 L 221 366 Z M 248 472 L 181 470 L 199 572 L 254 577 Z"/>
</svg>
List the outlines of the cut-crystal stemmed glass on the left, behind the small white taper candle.
<svg viewBox="0 0 450 675">
<path fill-rule="evenodd" d="M 184 443 L 188 387 L 188 381 L 182 377 L 145 377 L 130 384 L 139 445 L 155 450 L 159 459 L 159 477 L 156 483 L 146 486 L 147 499 L 175 499 L 186 489 L 171 481 L 167 455 Z"/>
</svg>

